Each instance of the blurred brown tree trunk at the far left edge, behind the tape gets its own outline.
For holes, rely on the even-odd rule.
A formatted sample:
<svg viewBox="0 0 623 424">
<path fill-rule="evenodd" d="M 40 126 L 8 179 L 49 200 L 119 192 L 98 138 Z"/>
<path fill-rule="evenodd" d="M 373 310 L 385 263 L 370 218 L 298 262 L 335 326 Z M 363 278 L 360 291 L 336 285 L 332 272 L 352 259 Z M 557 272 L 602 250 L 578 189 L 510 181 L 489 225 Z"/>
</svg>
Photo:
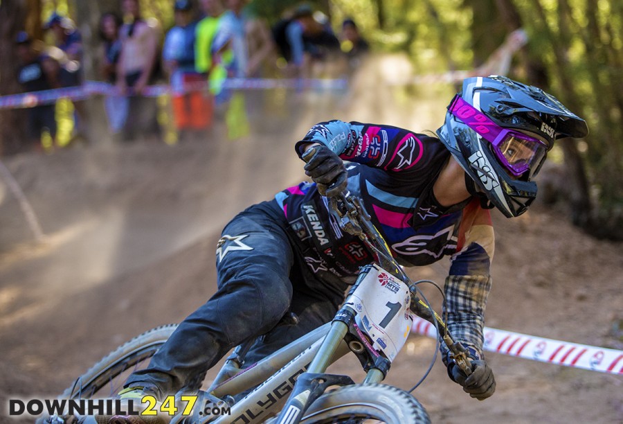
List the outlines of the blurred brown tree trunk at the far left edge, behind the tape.
<svg viewBox="0 0 623 424">
<path fill-rule="evenodd" d="M 0 96 L 21 91 L 17 82 L 15 36 L 24 30 L 26 3 L 26 0 L 0 1 Z M 0 155 L 23 150 L 26 145 L 25 130 L 26 112 L 23 109 L 1 110 Z"/>
</svg>

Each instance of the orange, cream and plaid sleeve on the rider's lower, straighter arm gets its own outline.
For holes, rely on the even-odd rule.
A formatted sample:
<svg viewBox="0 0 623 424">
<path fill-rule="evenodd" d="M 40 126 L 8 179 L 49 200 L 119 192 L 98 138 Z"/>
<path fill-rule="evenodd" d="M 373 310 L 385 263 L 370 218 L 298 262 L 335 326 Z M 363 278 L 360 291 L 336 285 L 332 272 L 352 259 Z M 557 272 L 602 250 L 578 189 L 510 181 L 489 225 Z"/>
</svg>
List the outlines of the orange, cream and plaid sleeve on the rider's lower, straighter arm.
<svg viewBox="0 0 623 424">
<path fill-rule="evenodd" d="M 494 231 L 491 215 L 472 200 L 463 211 L 457 252 L 451 258 L 444 292 L 447 325 L 451 335 L 466 346 L 472 355 L 482 357 L 485 307 L 491 290 L 490 267 L 494 254 Z M 442 344 L 442 357 L 448 350 Z"/>
</svg>

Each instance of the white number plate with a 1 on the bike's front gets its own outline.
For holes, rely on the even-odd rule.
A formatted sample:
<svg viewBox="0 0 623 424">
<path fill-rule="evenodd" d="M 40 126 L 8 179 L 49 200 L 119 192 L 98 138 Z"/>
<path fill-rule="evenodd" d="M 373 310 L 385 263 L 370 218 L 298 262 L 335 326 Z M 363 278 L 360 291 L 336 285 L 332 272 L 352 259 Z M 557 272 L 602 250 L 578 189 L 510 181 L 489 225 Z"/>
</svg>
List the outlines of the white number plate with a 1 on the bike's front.
<svg viewBox="0 0 623 424">
<path fill-rule="evenodd" d="M 357 326 L 372 339 L 372 347 L 393 361 L 409 335 L 409 288 L 377 265 L 370 268 L 346 304 L 356 311 Z"/>
</svg>

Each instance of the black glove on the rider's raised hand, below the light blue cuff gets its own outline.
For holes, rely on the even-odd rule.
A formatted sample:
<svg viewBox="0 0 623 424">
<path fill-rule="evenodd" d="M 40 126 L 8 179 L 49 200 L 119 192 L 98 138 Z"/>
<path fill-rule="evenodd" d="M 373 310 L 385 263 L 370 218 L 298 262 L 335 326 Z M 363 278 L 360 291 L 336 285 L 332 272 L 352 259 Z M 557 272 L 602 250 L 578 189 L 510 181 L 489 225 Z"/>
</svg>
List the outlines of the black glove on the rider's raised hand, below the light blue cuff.
<svg viewBox="0 0 623 424">
<path fill-rule="evenodd" d="M 305 174 L 318 186 L 318 192 L 327 197 L 346 189 L 347 172 L 344 162 L 325 145 L 314 145 L 301 156 L 307 162 Z"/>
</svg>

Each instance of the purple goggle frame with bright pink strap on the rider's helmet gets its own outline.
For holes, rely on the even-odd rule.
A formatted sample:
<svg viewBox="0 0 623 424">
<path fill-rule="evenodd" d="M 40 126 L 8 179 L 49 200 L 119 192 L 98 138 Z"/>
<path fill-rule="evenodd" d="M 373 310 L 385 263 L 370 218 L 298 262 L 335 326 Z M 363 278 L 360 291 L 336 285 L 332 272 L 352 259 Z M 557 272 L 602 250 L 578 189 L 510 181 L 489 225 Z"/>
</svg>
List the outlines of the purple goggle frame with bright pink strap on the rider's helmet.
<svg viewBox="0 0 623 424">
<path fill-rule="evenodd" d="M 548 151 L 548 145 L 539 139 L 523 134 L 515 130 L 509 130 L 503 128 L 487 118 L 485 114 L 480 112 L 469 103 L 467 103 L 460 96 L 455 96 L 452 103 L 448 107 L 449 112 L 460 119 L 462 123 L 471 128 L 471 130 L 477 132 L 483 139 L 489 141 L 494 147 L 494 153 L 500 162 L 507 168 L 510 173 L 516 177 L 522 175 L 527 170 L 530 170 L 534 165 L 532 173 L 539 169 L 539 164 L 545 158 L 545 154 Z M 500 148 L 503 145 L 512 141 L 512 139 L 518 139 L 521 141 L 521 147 L 523 150 L 530 152 L 530 157 L 527 160 L 519 162 L 510 162 L 505 156 L 504 152 Z M 532 175 L 531 175 L 532 176 Z"/>
</svg>

